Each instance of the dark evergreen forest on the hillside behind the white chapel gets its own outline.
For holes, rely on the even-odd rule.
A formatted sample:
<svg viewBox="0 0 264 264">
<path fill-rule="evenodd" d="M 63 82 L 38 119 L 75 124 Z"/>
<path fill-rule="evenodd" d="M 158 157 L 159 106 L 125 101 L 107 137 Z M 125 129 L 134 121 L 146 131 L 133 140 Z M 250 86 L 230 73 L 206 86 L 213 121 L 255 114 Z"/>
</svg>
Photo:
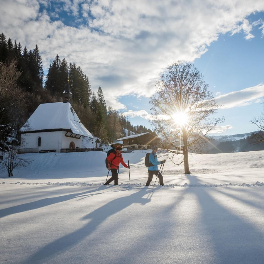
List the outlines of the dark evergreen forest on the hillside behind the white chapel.
<svg viewBox="0 0 264 264">
<path fill-rule="evenodd" d="M 19 129 L 39 104 L 62 101 L 62 93 L 69 82 L 72 106 L 80 121 L 96 137 L 113 142 L 133 133 L 153 133 L 142 125 L 133 126 L 122 112 L 106 106 L 103 91 L 97 95 L 89 78 L 75 62 L 69 63 L 57 55 L 44 70 L 38 45 L 33 50 L 22 48 L 16 40 L 0 35 L 0 146 L 8 138 L 19 140 Z M 127 132 L 128 131 L 128 132 Z M 10 141 L 10 139 L 9 139 Z M 9 142 L 8 141 L 8 142 Z M 18 142 L 18 141 L 17 141 Z"/>
</svg>

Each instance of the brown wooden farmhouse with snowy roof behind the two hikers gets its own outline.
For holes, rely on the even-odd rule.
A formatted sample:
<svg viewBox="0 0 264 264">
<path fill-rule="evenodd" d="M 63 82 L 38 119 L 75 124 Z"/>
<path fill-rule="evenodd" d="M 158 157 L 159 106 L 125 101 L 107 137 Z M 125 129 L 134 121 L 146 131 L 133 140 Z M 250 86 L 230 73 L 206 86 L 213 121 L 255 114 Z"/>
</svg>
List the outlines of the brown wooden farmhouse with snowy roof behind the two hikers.
<svg viewBox="0 0 264 264">
<path fill-rule="evenodd" d="M 153 136 L 149 132 L 135 134 L 117 139 L 123 141 L 124 147 L 132 147 L 136 149 L 151 149 L 151 145 L 155 145 L 157 137 Z"/>
</svg>

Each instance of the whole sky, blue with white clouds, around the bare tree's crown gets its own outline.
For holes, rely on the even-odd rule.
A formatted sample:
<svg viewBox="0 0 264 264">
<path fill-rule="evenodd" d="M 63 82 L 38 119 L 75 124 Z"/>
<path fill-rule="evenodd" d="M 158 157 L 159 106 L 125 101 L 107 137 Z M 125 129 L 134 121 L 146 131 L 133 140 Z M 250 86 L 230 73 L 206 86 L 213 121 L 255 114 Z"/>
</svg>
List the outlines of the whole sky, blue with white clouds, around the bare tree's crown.
<svg viewBox="0 0 264 264">
<path fill-rule="evenodd" d="M 16 10 L 19 10 L 16 11 Z M 41 51 L 45 73 L 58 54 L 133 125 L 151 128 L 150 95 L 167 65 L 194 63 L 225 121 L 218 135 L 257 130 L 264 96 L 264 2 L 2 0 L 1 32 Z"/>
</svg>

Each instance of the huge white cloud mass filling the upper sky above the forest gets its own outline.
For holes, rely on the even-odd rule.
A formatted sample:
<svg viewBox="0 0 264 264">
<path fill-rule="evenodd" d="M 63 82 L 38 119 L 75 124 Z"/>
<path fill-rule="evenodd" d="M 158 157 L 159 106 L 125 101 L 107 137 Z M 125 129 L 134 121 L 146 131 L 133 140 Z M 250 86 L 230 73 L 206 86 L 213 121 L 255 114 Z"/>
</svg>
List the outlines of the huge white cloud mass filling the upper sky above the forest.
<svg viewBox="0 0 264 264">
<path fill-rule="evenodd" d="M 54 13 L 39 13 L 40 5 L 53 2 L 56 12 L 65 10 L 75 21 L 86 22 L 70 27 L 65 17 L 52 21 Z M 219 34 L 243 31 L 252 38 L 256 24 L 246 17 L 263 9 L 263 0 L 3 0 L 0 24 L 7 38 L 22 46 L 33 49 L 38 43 L 45 70 L 57 54 L 74 61 L 94 91 L 101 86 L 111 106 L 124 109 L 116 95 L 149 97 L 167 65 L 194 61 Z"/>
</svg>

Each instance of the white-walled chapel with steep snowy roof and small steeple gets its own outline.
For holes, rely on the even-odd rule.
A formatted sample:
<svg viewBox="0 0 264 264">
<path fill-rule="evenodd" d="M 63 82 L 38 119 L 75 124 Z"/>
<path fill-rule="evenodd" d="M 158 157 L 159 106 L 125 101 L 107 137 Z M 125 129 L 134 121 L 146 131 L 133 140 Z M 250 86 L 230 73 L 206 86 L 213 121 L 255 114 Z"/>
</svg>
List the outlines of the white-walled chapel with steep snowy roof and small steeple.
<svg viewBox="0 0 264 264">
<path fill-rule="evenodd" d="M 69 85 L 67 88 L 63 102 L 40 104 L 22 126 L 19 153 L 82 148 L 82 136 L 93 138 L 73 110 Z"/>
</svg>

